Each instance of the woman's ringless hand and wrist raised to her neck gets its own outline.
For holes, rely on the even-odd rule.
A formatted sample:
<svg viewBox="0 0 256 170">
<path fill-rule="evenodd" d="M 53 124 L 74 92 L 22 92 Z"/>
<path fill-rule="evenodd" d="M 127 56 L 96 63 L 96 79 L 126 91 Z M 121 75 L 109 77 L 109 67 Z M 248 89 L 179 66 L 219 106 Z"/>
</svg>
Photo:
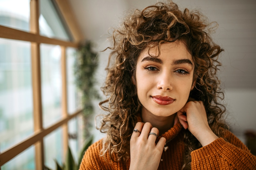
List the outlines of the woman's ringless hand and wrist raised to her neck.
<svg viewBox="0 0 256 170">
<path fill-rule="evenodd" d="M 186 113 L 186 115 L 184 114 Z M 209 127 L 207 115 L 202 101 L 189 101 L 177 112 L 181 125 L 197 138 L 202 146 L 218 139 Z"/>
</svg>

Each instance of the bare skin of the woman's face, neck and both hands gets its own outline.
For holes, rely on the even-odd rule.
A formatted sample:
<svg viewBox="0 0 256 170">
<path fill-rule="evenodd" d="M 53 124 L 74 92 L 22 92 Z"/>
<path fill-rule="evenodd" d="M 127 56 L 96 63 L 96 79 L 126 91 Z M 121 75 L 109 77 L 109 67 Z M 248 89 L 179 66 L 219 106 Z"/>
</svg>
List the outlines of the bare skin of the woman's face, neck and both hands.
<svg viewBox="0 0 256 170">
<path fill-rule="evenodd" d="M 158 55 L 156 48 L 150 49 L 150 55 L 145 49 L 138 57 L 135 84 L 143 106 L 142 121 L 146 123 L 138 122 L 135 129 L 141 133 L 132 133 L 130 169 L 158 168 L 166 139 L 161 138 L 156 145 L 156 136 L 148 134 L 161 135 L 177 121 L 188 128 L 202 146 L 218 138 L 207 123 L 203 103 L 189 99 L 194 88 L 194 64 L 186 46 L 182 42 L 164 43 L 160 50 L 157 58 L 150 56 Z"/>
</svg>

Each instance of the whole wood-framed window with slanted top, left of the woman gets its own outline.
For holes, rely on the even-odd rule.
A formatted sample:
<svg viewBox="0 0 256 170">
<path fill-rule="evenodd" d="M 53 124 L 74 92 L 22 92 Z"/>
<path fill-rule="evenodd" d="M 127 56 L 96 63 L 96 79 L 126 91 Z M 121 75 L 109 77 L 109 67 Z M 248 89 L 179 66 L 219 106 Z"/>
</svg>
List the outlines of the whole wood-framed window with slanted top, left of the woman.
<svg viewBox="0 0 256 170">
<path fill-rule="evenodd" d="M 73 75 L 82 35 L 67 0 L 0 4 L 0 169 L 55 169 L 83 142 Z"/>
</svg>

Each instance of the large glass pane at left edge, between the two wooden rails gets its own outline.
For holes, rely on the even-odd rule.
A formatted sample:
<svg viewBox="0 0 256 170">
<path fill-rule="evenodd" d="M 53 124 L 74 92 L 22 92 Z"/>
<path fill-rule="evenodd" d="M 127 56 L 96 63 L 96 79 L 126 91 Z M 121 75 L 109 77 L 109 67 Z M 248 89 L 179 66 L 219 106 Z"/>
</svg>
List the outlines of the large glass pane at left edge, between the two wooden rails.
<svg viewBox="0 0 256 170">
<path fill-rule="evenodd" d="M 30 42 L 0 38 L 0 149 L 33 134 Z"/>
</svg>

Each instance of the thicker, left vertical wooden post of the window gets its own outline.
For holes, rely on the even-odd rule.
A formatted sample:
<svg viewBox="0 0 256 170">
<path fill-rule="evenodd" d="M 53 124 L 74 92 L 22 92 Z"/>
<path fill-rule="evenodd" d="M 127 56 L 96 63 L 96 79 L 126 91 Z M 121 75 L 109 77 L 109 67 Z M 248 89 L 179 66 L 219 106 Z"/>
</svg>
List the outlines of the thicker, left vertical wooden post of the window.
<svg viewBox="0 0 256 170">
<path fill-rule="evenodd" d="M 39 35 L 39 0 L 30 1 L 30 31 Z M 33 86 L 34 131 L 43 129 L 42 96 L 41 96 L 41 67 L 40 44 L 31 42 L 31 65 Z M 44 144 L 43 138 L 35 143 L 36 169 L 44 168 Z"/>
</svg>

